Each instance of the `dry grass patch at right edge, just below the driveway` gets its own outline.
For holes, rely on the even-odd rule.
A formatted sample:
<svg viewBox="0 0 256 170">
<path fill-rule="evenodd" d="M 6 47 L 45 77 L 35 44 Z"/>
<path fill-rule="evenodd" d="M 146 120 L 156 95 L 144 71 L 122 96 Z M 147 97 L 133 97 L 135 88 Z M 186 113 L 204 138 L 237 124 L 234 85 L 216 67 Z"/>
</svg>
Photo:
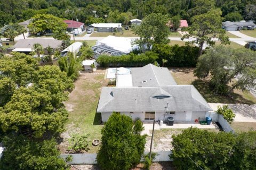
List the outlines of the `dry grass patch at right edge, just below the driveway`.
<svg viewBox="0 0 256 170">
<path fill-rule="evenodd" d="M 256 123 L 255 122 L 232 122 L 231 127 L 235 130 L 235 132 L 247 132 L 247 131 L 256 131 Z"/>
</svg>

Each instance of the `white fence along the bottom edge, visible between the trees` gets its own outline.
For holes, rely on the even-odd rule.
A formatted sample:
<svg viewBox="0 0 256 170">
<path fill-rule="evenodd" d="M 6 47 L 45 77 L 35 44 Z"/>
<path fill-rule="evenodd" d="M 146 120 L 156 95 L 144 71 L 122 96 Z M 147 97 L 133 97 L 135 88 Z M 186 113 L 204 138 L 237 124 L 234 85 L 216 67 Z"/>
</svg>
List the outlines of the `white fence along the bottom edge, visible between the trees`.
<svg viewBox="0 0 256 170">
<path fill-rule="evenodd" d="M 148 151 L 145 151 L 144 154 L 148 154 Z M 165 162 L 171 161 L 169 155 L 172 154 L 171 150 L 167 151 L 158 151 L 156 152 L 156 157 L 153 162 Z M 68 156 L 72 156 L 73 160 L 69 164 L 97 164 L 97 154 L 61 154 L 60 157 L 65 159 Z M 141 162 L 143 159 L 141 159 Z"/>
</svg>

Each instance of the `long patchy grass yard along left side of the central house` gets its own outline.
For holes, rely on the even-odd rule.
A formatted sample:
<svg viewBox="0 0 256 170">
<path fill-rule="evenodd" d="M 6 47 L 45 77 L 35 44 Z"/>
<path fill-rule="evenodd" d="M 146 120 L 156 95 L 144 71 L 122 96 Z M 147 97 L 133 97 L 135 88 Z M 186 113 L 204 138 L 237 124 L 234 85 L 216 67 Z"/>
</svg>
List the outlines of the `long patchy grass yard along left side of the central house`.
<svg viewBox="0 0 256 170">
<path fill-rule="evenodd" d="M 98 69 L 94 73 L 105 73 L 105 69 Z M 92 146 L 91 141 L 93 139 L 101 139 L 101 115 L 95 114 L 95 112 L 101 88 L 107 84 L 107 79 L 104 79 L 104 75 L 82 75 L 75 82 L 75 89 L 70 93 L 68 101 L 65 102 L 69 117 L 65 124 L 66 132 L 61 134 L 63 141 L 60 143 L 59 148 L 62 153 L 67 152 L 68 138 L 72 133 L 89 133 L 89 150 L 85 152 L 95 153 L 98 151 L 99 146 Z"/>
</svg>

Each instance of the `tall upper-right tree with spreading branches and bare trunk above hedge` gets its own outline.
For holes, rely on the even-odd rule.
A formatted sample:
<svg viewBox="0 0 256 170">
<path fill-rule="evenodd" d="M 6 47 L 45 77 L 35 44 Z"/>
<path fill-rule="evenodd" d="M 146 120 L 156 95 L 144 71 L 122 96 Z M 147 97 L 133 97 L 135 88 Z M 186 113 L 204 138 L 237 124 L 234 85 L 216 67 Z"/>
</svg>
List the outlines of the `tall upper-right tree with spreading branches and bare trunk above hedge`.
<svg viewBox="0 0 256 170">
<path fill-rule="evenodd" d="M 195 15 L 191 19 L 191 26 L 183 29 L 188 34 L 184 35 L 181 39 L 193 37 L 195 40 L 190 41 L 190 44 L 199 45 L 199 55 L 203 52 L 203 45 L 206 44 L 212 47 L 215 41 L 212 38 L 218 38 L 222 44 L 229 44 L 230 41 L 225 36 L 225 30 L 220 25 L 222 22 L 220 10 L 210 10 L 206 14 Z"/>
</svg>

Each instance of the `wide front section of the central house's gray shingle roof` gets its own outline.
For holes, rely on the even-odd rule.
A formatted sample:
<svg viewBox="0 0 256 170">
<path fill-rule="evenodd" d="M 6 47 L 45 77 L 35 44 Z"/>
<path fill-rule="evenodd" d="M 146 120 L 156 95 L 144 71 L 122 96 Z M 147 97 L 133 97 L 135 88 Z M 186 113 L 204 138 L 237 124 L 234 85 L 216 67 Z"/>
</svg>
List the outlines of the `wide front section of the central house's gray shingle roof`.
<svg viewBox="0 0 256 170">
<path fill-rule="evenodd" d="M 183 112 L 212 111 L 212 108 L 193 85 L 103 87 L 97 112 L 113 111 Z"/>
</svg>

